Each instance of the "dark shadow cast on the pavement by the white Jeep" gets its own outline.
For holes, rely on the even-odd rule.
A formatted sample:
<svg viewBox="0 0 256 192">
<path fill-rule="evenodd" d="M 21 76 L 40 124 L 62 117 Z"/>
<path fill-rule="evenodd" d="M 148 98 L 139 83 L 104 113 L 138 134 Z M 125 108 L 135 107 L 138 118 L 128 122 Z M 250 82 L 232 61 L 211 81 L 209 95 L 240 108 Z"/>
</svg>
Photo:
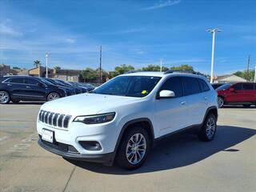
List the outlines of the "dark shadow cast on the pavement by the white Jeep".
<svg viewBox="0 0 256 192">
<path fill-rule="evenodd" d="M 101 174 L 140 174 L 160 170 L 170 170 L 190 166 L 220 151 L 239 153 L 238 149 L 229 149 L 254 136 L 256 130 L 238 126 L 218 126 L 212 142 L 201 142 L 194 134 L 176 134 L 164 138 L 150 151 L 145 164 L 138 170 L 124 170 L 118 166 L 103 166 L 92 162 L 68 160 L 83 169 Z"/>
</svg>

